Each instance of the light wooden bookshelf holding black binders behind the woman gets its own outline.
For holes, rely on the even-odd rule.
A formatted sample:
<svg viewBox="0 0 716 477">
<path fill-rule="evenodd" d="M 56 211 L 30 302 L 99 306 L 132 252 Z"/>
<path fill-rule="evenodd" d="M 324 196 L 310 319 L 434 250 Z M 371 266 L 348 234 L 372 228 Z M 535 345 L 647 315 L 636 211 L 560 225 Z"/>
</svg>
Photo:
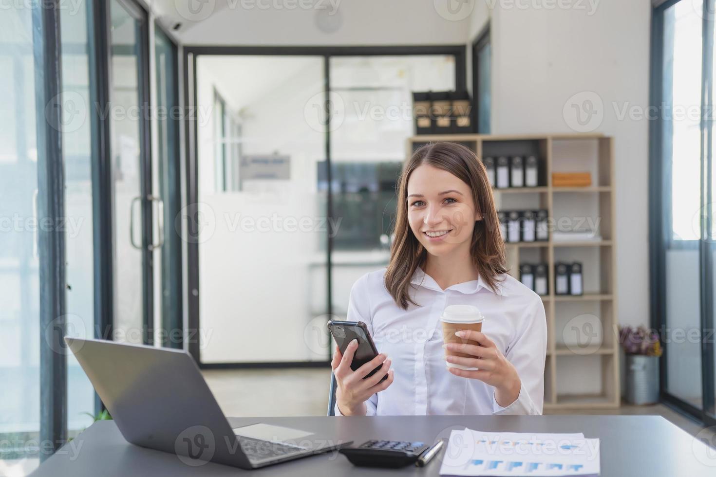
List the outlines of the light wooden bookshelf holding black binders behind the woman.
<svg viewBox="0 0 716 477">
<path fill-rule="evenodd" d="M 591 217 L 602 240 L 553 240 L 551 230 L 547 242 L 506 243 L 508 268 L 519 279 L 522 262 L 548 265 L 549 295 L 542 297 L 548 333 L 545 410 L 619 407 L 614 138 L 601 134 L 430 134 L 410 137 L 407 153 L 439 141 L 460 142 L 480 159 L 527 154 L 539 157 L 538 187 L 494 189 L 498 210 L 546 209 L 553 224 L 561 217 Z M 552 185 L 552 172 L 582 171 L 591 172 L 591 186 Z M 584 295 L 556 295 L 555 262 L 574 260 L 584 267 Z M 584 339 L 586 335 L 590 335 L 588 340 Z"/>
</svg>

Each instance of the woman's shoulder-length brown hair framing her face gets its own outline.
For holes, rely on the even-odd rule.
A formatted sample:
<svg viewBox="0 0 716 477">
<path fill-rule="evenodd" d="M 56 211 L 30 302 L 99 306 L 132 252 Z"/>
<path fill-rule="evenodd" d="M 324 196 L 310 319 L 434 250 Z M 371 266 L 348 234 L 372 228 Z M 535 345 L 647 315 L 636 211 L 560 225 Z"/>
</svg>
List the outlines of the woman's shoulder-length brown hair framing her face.
<svg viewBox="0 0 716 477">
<path fill-rule="evenodd" d="M 420 306 L 410 297 L 410 280 L 417 267 L 424 267 L 427 260 L 427 250 L 412 233 L 407 219 L 407 182 L 410 180 L 410 174 L 422 164 L 448 171 L 470 186 L 475 207 L 483 217 L 475 222 L 470 245 L 470 255 L 480 277 L 495 291 L 499 275 L 507 272 L 505 243 L 500 234 L 495 200 L 485 165 L 473 151 L 462 144 L 425 144 L 403 164 L 393 230 L 395 239 L 390 247 L 390 262 L 384 277 L 385 287 L 403 310 L 411 303 Z"/>
</svg>

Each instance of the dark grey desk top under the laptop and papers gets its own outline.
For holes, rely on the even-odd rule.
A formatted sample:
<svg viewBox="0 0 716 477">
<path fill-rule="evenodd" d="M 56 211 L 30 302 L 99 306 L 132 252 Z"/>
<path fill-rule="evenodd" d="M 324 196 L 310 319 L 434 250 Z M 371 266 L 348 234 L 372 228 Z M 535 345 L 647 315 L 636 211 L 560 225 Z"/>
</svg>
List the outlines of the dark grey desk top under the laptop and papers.
<svg viewBox="0 0 716 477">
<path fill-rule="evenodd" d="M 324 431 L 347 441 L 370 438 L 432 442 L 449 429 L 480 431 L 583 432 L 601 438 L 601 476 L 715 476 L 716 467 L 700 463 L 692 446 L 705 446 L 659 416 L 652 415 L 430 415 L 379 417 L 230 418 L 232 426 L 265 422 Z M 33 476 L 236 476 L 241 469 L 206 463 L 186 466 L 173 454 L 132 446 L 112 421 L 100 421 L 80 434 L 74 448 L 66 444 Z M 74 449 L 74 450 L 73 450 Z M 716 452 L 716 451 L 715 451 Z M 712 454 L 713 456 L 713 454 Z M 261 476 L 437 476 L 442 452 L 424 468 L 399 470 L 354 467 L 340 455 L 323 454 L 254 471 Z M 713 463 L 713 462 L 712 462 Z"/>
</svg>

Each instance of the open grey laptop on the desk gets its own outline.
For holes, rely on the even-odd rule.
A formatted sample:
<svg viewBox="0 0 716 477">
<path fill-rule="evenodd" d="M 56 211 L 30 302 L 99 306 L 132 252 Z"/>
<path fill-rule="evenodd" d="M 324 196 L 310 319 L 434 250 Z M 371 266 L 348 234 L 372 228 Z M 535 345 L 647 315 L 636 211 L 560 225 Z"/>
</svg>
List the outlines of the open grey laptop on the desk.
<svg viewBox="0 0 716 477">
<path fill-rule="evenodd" d="M 352 441 L 255 423 L 232 428 L 203 375 L 183 350 L 64 338 L 132 444 L 243 469 L 334 451 Z"/>
</svg>

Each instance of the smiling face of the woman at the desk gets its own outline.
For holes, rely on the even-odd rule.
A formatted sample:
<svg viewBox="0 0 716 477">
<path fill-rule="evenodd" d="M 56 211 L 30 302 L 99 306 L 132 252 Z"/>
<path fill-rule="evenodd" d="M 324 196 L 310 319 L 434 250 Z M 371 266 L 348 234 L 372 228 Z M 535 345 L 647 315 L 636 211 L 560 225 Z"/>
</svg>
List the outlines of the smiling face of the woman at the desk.
<svg viewBox="0 0 716 477">
<path fill-rule="evenodd" d="M 450 172 L 422 164 L 407 183 L 410 230 L 431 255 L 470 250 L 475 221 L 482 220 L 470 186 Z"/>
</svg>

